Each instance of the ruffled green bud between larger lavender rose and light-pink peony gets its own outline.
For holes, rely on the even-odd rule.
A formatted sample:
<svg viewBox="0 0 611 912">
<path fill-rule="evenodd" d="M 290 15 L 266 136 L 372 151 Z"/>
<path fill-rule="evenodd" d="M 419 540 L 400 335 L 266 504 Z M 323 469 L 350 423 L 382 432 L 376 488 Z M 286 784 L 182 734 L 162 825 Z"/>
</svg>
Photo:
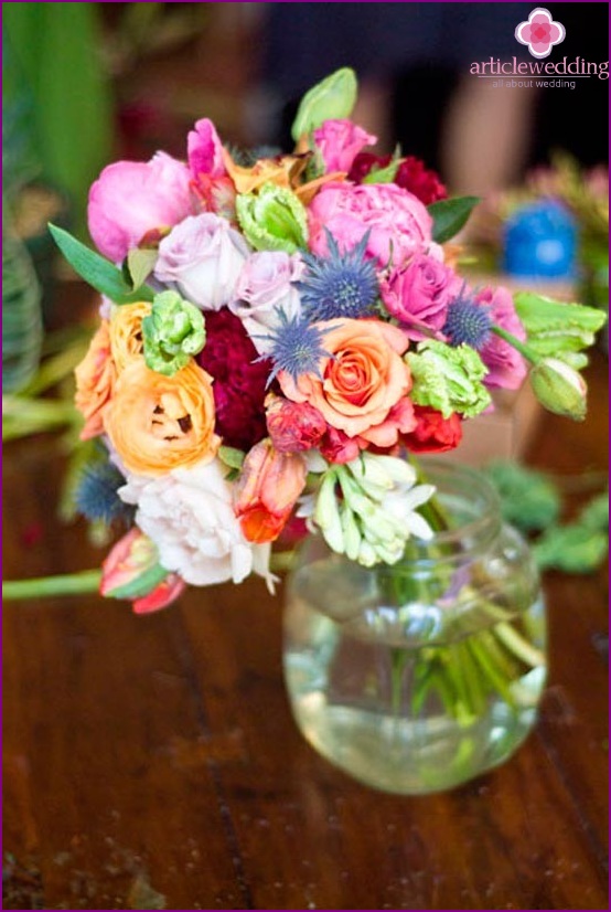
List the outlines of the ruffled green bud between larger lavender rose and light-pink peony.
<svg viewBox="0 0 611 912">
<path fill-rule="evenodd" d="M 246 240 L 257 251 L 292 254 L 307 245 L 306 208 L 286 187 L 264 183 L 258 193 L 238 194 L 236 213 Z"/>
</svg>

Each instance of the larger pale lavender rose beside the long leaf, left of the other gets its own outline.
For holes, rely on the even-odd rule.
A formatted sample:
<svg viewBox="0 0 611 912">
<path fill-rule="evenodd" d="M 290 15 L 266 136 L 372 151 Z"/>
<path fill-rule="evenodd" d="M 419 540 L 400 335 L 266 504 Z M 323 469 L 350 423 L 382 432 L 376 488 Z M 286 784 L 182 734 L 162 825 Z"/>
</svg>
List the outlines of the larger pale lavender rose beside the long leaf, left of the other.
<svg viewBox="0 0 611 912">
<path fill-rule="evenodd" d="M 176 225 L 159 245 L 154 275 L 175 283 L 202 310 L 219 310 L 234 300 L 249 248 L 226 219 L 205 212 Z"/>
</svg>

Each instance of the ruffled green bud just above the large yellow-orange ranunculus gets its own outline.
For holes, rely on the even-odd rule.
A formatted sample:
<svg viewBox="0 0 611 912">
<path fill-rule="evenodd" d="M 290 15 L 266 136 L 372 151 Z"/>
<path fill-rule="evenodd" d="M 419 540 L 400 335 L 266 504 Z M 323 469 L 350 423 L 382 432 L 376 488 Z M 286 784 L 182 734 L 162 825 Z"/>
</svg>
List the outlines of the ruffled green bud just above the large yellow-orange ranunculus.
<svg viewBox="0 0 611 912">
<path fill-rule="evenodd" d="M 176 291 L 156 295 L 151 312 L 142 320 L 147 367 L 167 377 L 184 368 L 206 341 L 202 311 Z"/>
</svg>

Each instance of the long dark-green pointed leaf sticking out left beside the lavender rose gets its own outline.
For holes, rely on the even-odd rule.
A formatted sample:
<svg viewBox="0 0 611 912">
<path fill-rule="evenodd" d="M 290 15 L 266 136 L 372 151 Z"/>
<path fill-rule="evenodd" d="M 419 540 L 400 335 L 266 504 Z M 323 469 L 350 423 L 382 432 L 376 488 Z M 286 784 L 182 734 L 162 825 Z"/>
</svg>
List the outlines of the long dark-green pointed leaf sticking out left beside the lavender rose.
<svg viewBox="0 0 611 912">
<path fill-rule="evenodd" d="M 133 289 L 126 282 L 121 271 L 108 259 L 68 234 L 57 225 L 49 224 L 53 240 L 79 276 L 96 291 L 110 298 L 115 304 L 135 304 L 140 300 L 151 300 L 154 291 L 148 285 Z"/>
</svg>

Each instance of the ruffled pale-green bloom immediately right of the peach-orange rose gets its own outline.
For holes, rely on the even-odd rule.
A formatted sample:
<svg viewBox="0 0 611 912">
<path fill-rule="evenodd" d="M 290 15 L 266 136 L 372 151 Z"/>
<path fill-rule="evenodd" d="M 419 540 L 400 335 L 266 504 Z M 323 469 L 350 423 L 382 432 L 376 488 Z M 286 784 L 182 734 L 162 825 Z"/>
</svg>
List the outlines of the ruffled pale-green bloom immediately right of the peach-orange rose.
<svg viewBox="0 0 611 912">
<path fill-rule="evenodd" d="M 444 418 L 453 412 L 472 418 L 490 405 L 491 399 L 481 382 L 487 369 L 469 346 L 447 346 L 429 339 L 417 352 L 408 352 L 414 386 L 409 394 L 416 405 L 430 405 Z"/>
</svg>

